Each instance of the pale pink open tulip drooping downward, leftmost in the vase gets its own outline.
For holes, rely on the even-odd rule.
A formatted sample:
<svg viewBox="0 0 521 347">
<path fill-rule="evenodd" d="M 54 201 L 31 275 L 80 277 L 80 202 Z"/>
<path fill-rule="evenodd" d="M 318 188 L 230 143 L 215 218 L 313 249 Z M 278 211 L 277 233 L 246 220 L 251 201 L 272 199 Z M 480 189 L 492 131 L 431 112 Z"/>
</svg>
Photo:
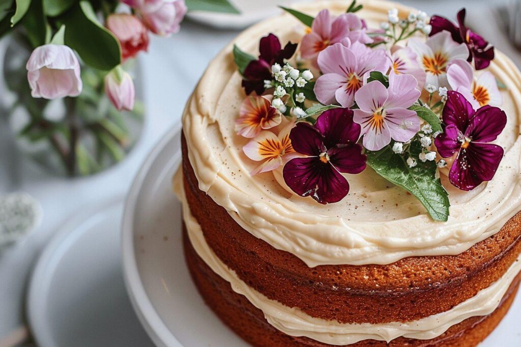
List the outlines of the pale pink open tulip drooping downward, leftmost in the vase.
<svg viewBox="0 0 521 347">
<path fill-rule="evenodd" d="M 36 47 L 26 68 L 34 98 L 56 99 L 81 93 L 80 63 L 65 45 Z"/>
</svg>

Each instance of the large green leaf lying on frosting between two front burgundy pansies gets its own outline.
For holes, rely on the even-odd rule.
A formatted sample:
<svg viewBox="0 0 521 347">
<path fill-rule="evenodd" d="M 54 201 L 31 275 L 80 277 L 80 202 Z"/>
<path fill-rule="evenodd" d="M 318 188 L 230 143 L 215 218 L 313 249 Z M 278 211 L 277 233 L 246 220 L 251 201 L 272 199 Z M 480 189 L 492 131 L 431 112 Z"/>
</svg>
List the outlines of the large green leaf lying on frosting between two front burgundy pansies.
<svg viewBox="0 0 521 347">
<path fill-rule="evenodd" d="M 421 151 L 418 141 L 411 144 L 411 155 L 418 158 Z M 406 156 L 393 152 L 391 145 L 379 151 L 366 151 L 367 164 L 389 182 L 414 195 L 435 221 L 446 222 L 449 217 L 449 195 L 436 177 L 435 161 L 418 160 L 414 168 L 406 162 Z"/>
</svg>

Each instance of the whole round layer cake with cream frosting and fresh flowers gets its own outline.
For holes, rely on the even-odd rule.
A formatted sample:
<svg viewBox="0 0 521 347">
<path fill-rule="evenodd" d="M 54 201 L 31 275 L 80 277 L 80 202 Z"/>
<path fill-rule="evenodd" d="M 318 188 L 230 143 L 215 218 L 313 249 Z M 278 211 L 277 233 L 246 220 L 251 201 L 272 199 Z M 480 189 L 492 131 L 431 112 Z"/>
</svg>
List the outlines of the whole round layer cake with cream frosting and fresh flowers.
<svg viewBox="0 0 521 347">
<path fill-rule="evenodd" d="M 521 74 L 464 16 L 302 4 L 210 63 L 174 187 L 193 280 L 250 344 L 474 346 L 508 311 Z"/>
</svg>

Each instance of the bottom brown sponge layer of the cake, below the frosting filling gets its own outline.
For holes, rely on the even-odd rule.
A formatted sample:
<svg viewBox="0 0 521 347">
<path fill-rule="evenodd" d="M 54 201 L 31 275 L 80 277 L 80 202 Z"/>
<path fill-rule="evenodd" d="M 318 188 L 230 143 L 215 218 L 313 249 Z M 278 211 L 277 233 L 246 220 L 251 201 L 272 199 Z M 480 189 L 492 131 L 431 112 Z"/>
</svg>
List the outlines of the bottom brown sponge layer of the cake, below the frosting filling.
<svg viewBox="0 0 521 347">
<path fill-rule="evenodd" d="M 192 279 L 206 304 L 222 322 L 246 342 L 258 347 L 331 346 L 306 337 L 289 336 L 271 326 L 261 310 L 257 309 L 243 295 L 234 292 L 229 282 L 206 265 L 193 248 L 184 225 L 183 248 Z M 363 340 L 349 346 L 475 346 L 492 332 L 507 313 L 515 298 L 520 279 L 521 274 L 514 279 L 494 312 L 487 316 L 467 318 L 434 339 L 417 340 L 400 337 L 389 343 Z"/>
</svg>

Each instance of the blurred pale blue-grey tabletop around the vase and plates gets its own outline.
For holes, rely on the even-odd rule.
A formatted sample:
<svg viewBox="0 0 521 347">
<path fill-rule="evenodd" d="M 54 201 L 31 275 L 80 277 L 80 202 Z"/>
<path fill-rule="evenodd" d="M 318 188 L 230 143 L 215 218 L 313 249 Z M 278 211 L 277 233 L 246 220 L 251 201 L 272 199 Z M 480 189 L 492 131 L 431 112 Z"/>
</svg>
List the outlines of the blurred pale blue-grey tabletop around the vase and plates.
<svg viewBox="0 0 521 347">
<path fill-rule="evenodd" d="M 401 1 L 407 5 L 453 17 L 463 6 L 468 18 L 487 26 L 488 37 L 497 47 L 521 61 L 506 38 L 495 40 L 499 27 L 490 14 L 481 10 L 491 3 L 476 1 Z M 500 1 L 503 3 L 503 1 Z M 472 6 L 472 8 L 470 7 Z M 487 19 L 479 21 L 480 19 Z M 485 25 L 486 22 L 486 25 Z M 484 32 L 485 28 L 481 29 Z M 29 159 L 13 155 L 6 148 L 12 140 L 0 126 L 0 194 L 25 191 L 43 207 L 41 226 L 15 246 L 0 254 L 0 340 L 25 322 L 24 301 L 27 281 L 38 254 L 71 216 L 126 194 L 141 163 L 154 144 L 179 122 L 185 101 L 193 91 L 208 62 L 237 35 L 233 30 L 217 30 L 201 24 L 185 22 L 181 31 L 169 38 L 152 37 L 149 51 L 140 56 L 143 71 L 146 120 L 142 136 L 130 155 L 120 164 L 100 174 L 75 179 L 55 177 L 42 171 Z M 114 230 L 119 233 L 119 230 Z"/>
</svg>

